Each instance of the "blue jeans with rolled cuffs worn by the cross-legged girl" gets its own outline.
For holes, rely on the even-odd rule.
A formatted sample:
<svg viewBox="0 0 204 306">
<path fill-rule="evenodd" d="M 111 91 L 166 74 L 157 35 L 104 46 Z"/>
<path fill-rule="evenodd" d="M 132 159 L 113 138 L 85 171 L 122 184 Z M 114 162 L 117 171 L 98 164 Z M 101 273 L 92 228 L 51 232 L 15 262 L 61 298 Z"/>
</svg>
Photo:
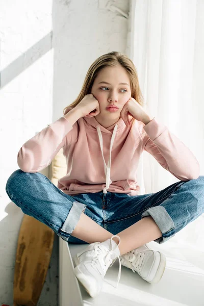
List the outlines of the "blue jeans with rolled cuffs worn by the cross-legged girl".
<svg viewBox="0 0 204 306">
<path fill-rule="evenodd" d="M 135 196 L 103 191 L 67 195 L 45 175 L 18 169 L 10 175 L 6 192 L 24 214 L 71 243 L 87 243 L 71 236 L 82 212 L 113 235 L 151 216 L 162 232 L 162 237 L 155 240 L 159 244 L 204 213 L 204 176 Z"/>
</svg>

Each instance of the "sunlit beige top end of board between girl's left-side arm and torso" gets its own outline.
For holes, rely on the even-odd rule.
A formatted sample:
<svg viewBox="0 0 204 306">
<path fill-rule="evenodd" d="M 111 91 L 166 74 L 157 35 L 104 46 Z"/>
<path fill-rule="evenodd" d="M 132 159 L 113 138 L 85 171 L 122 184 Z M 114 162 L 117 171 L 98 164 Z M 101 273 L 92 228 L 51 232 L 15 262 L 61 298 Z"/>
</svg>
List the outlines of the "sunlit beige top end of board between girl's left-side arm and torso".
<svg viewBox="0 0 204 306">
<path fill-rule="evenodd" d="M 50 164 L 49 180 L 57 186 L 58 180 L 64 175 L 66 175 L 66 158 L 61 148 Z"/>
</svg>

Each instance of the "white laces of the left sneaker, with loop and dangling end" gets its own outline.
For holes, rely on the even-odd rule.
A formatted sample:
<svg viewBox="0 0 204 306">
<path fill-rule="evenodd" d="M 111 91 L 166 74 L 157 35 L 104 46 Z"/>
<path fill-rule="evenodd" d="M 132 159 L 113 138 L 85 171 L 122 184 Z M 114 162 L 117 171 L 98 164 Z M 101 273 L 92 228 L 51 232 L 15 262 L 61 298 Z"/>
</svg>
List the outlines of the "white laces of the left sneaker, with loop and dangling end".
<svg viewBox="0 0 204 306">
<path fill-rule="evenodd" d="M 119 236 L 114 235 L 114 236 L 111 237 L 111 240 L 114 237 L 119 238 Z M 108 270 L 109 267 L 112 267 L 112 265 L 114 264 L 114 262 L 118 258 L 118 260 L 119 260 L 119 271 L 118 271 L 118 277 L 117 277 L 117 285 L 116 285 L 115 288 L 118 287 L 118 283 L 120 281 L 120 275 L 121 275 L 120 257 L 115 252 L 115 249 L 118 247 L 119 244 L 120 244 L 120 238 L 119 238 L 119 243 L 116 246 L 113 247 L 113 245 L 111 243 L 111 249 L 110 250 L 105 245 L 95 244 L 94 245 L 94 254 L 93 254 L 93 258 L 92 258 L 93 261 L 98 260 L 100 266 L 102 267 L 103 271 L 105 271 L 105 272 Z M 111 258 L 112 253 L 116 254 L 116 256 L 117 256 L 114 260 Z M 107 268 L 104 268 L 106 266 L 107 266 Z M 107 282 L 105 279 L 104 279 L 104 281 L 106 283 L 108 283 L 109 285 L 112 285 L 109 282 Z"/>
</svg>

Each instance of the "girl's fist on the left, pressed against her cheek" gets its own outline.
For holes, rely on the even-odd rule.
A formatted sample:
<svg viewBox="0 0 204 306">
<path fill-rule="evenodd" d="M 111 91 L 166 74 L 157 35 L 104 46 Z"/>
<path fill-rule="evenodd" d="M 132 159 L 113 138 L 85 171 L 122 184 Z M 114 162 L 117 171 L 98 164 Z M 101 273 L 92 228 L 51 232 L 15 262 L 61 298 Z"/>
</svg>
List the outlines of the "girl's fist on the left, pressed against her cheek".
<svg viewBox="0 0 204 306">
<path fill-rule="evenodd" d="M 85 95 L 80 103 L 75 106 L 75 108 L 80 111 L 81 117 L 91 118 L 100 113 L 98 100 L 93 96 L 92 93 Z"/>
</svg>

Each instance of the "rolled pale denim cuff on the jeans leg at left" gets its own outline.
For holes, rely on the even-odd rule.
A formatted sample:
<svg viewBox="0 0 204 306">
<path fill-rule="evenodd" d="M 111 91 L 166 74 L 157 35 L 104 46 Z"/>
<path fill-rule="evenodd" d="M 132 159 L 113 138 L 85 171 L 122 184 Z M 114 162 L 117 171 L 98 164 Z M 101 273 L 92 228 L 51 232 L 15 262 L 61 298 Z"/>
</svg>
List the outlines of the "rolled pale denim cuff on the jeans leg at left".
<svg viewBox="0 0 204 306">
<path fill-rule="evenodd" d="M 68 241 L 69 237 L 71 236 L 74 228 L 77 226 L 77 223 L 80 220 L 80 216 L 82 212 L 86 209 L 86 205 L 80 202 L 73 202 L 73 205 L 69 211 L 67 218 L 64 221 L 63 226 L 59 230 L 59 236 Z"/>
</svg>

